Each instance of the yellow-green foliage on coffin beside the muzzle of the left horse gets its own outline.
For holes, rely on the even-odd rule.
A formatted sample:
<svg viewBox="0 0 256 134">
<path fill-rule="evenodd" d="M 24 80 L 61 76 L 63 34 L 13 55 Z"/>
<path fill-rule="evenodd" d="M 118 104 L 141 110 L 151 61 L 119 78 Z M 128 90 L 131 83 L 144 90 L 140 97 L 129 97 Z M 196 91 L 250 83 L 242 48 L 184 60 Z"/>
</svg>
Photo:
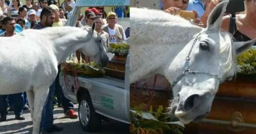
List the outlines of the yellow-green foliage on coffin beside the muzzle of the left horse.
<svg viewBox="0 0 256 134">
<path fill-rule="evenodd" d="M 122 44 L 110 44 L 108 47 L 108 52 L 115 53 L 119 56 L 127 56 L 129 52 L 129 45 L 126 43 Z"/>
</svg>

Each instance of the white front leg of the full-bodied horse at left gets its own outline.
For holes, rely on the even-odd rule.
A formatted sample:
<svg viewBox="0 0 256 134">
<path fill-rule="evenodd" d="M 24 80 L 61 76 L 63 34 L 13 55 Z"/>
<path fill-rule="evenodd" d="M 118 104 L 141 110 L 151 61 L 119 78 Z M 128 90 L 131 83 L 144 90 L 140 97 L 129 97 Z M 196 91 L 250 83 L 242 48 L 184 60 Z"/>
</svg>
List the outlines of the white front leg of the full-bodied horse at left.
<svg viewBox="0 0 256 134">
<path fill-rule="evenodd" d="M 38 88 L 34 90 L 34 113 L 33 114 L 33 134 L 38 134 L 40 130 L 42 109 L 44 108 L 49 88 Z"/>
</svg>

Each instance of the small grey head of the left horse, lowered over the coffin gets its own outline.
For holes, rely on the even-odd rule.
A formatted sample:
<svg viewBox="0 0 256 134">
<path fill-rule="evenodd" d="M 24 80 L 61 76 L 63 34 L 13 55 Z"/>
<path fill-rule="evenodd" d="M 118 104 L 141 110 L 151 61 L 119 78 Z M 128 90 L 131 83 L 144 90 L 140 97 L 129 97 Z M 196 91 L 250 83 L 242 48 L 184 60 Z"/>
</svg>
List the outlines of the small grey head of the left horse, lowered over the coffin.
<svg viewBox="0 0 256 134">
<path fill-rule="evenodd" d="M 83 29 L 87 30 L 91 36 L 93 37 L 93 44 L 90 46 L 83 47 L 81 50 L 85 55 L 93 57 L 93 60 L 101 65 L 106 66 L 106 63 L 109 61 L 108 55 L 106 55 L 106 49 L 104 47 L 103 39 L 100 37 L 100 35 L 96 34 L 94 31 L 95 23 L 93 23 L 92 28 L 89 28 L 88 26 L 84 26 Z"/>
</svg>

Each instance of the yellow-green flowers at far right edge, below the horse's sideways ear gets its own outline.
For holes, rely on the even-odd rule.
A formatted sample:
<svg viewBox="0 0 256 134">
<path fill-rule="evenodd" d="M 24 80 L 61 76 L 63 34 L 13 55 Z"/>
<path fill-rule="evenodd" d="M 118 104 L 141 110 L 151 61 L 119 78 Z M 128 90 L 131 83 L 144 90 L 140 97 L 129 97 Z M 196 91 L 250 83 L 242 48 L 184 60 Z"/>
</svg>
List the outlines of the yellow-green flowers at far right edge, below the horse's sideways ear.
<svg viewBox="0 0 256 134">
<path fill-rule="evenodd" d="M 238 57 L 238 74 L 256 74 L 256 49 L 249 49 Z"/>
</svg>

